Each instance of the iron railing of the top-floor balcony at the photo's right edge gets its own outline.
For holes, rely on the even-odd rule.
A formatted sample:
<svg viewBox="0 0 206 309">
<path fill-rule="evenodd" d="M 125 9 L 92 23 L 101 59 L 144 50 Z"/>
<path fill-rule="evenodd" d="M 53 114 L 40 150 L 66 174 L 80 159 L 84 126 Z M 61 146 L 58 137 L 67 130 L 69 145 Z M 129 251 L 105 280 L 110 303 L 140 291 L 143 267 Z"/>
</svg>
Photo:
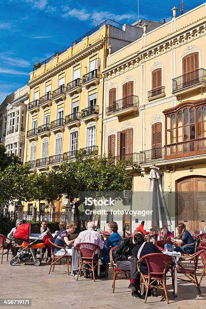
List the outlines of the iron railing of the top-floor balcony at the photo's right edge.
<svg viewBox="0 0 206 309">
<path fill-rule="evenodd" d="M 198 69 L 173 79 L 173 92 L 201 82 L 206 83 L 206 69 Z"/>
</svg>

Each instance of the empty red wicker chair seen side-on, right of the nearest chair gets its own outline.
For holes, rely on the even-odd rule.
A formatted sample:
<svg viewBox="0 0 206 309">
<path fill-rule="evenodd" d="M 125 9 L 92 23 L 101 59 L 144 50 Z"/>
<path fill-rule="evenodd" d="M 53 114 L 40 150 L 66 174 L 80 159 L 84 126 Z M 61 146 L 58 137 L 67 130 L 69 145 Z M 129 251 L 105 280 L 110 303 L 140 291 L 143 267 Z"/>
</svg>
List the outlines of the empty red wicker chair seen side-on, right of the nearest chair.
<svg viewBox="0 0 206 309">
<path fill-rule="evenodd" d="M 199 256 L 204 252 L 204 250 L 200 250 L 200 251 L 197 251 L 196 253 L 192 254 L 191 256 L 188 256 L 187 257 L 183 257 L 180 259 L 180 266 L 179 266 L 179 269 L 178 269 L 178 273 L 179 274 L 183 274 L 185 275 L 189 280 L 184 280 L 184 281 L 188 281 L 188 282 L 192 282 L 195 284 L 196 286 L 196 289 L 197 289 L 197 293 L 198 295 L 200 296 L 200 288 L 199 288 L 199 283 L 197 281 L 197 276 L 196 276 L 196 270 L 197 270 L 197 265 L 198 265 L 198 259 L 199 259 Z M 194 261 L 194 268 L 184 268 L 182 266 L 182 261 Z"/>
</svg>

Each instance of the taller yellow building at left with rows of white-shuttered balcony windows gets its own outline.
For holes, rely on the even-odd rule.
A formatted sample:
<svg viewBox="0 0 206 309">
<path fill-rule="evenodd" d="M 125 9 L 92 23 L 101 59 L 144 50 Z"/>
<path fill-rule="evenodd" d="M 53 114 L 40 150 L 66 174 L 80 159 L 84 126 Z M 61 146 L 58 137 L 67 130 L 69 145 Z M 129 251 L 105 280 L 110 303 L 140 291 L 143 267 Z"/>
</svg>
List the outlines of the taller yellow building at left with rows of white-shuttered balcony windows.
<svg viewBox="0 0 206 309">
<path fill-rule="evenodd" d="M 64 52 L 34 66 L 28 83 L 24 152 L 24 162 L 30 162 L 31 171 L 44 172 L 74 160 L 76 150 L 84 149 L 86 155 L 102 154 L 102 71 L 106 58 L 141 37 L 142 32 L 141 27 L 107 20 Z M 32 207 L 34 202 L 28 210 Z"/>
</svg>

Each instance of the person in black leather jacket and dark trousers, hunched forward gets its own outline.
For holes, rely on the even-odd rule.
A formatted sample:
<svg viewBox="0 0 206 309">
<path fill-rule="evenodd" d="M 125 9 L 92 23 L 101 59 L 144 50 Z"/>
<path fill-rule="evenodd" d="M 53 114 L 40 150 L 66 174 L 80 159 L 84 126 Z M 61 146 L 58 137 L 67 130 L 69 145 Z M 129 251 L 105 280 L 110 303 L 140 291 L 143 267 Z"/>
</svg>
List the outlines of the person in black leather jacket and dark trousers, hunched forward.
<svg viewBox="0 0 206 309">
<path fill-rule="evenodd" d="M 142 238 L 144 236 L 142 232 L 137 232 L 141 234 Z M 118 243 L 118 248 L 114 252 L 114 257 L 116 259 L 117 267 L 122 270 L 130 272 L 130 285 L 129 288 L 132 289 L 132 296 L 140 297 L 141 294 L 138 292 L 137 287 L 135 285 L 136 279 L 138 279 L 138 270 L 137 270 L 137 259 L 133 256 L 132 250 L 136 246 L 136 234 L 133 237 L 123 238 Z"/>
</svg>

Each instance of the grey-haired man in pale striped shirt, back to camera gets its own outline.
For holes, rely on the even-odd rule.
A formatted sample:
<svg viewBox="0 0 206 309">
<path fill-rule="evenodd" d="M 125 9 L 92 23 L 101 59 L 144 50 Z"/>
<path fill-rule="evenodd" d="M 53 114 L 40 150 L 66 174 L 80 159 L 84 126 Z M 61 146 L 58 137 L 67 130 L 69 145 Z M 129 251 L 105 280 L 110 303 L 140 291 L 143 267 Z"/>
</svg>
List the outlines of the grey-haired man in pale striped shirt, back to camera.
<svg viewBox="0 0 206 309">
<path fill-rule="evenodd" d="M 78 237 L 74 241 L 74 246 L 81 242 L 90 242 L 98 245 L 100 249 L 104 247 L 104 243 L 101 239 L 101 235 L 94 231 L 95 224 L 93 221 L 89 221 L 87 224 L 87 230 L 80 232 Z M 89 271 L 83 270 L 82 273 L 84 274 L 85 278 L 88 278 Z"/>
</svg>

